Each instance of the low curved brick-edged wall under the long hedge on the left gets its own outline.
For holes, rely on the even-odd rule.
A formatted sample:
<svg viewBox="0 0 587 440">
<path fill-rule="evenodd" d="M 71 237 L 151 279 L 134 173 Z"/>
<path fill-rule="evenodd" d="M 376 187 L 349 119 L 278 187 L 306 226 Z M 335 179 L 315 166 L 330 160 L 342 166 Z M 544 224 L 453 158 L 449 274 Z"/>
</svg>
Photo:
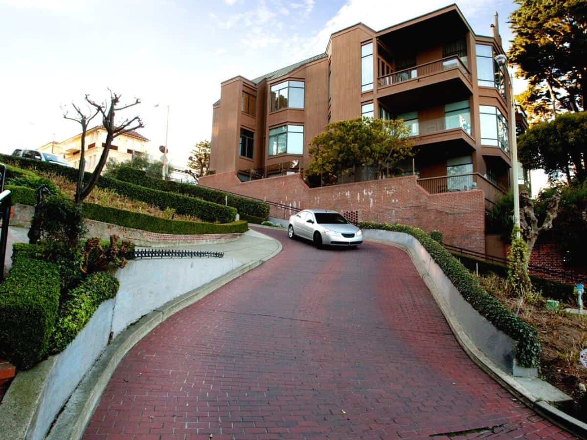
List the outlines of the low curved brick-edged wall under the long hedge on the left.
<svg viewBox="0 0 587 440">
<path fill-rule="evenodd" d="M 29 205 L 14 204 L 10 212 L 10 225 L 29 228 L 35 208 Z M 210 233 L 197 235 L 173 235 L 143 231 L 142 229 L 125 228 L 124 226 L 86 219 L 87 236 L 108 239 L 110 235 L 118 235 L 121 239 L 129 240 L 139 246 L 170 246 L 191 245 L 205 243 L 223 243 L 233 241 L 242 234 L 237 233 Z"/>
</svg>

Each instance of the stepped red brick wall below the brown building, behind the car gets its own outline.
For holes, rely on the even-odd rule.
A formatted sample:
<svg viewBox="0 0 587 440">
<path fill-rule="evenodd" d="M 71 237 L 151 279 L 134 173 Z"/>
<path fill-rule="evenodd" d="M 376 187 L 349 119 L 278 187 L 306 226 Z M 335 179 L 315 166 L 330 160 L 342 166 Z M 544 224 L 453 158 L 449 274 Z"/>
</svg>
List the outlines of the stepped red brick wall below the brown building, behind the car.
<svg viewBox="0 0 587 440">
<path fill-rule="evenodd" d="M 234 172 L 200 179 L 211 188 L 278 202 L 292 208 L 335 209 L 358 221 L 402 223 L 430 232 L 444 241 L 485 252 L 485 204 L 480 189 L 429 194 L 416 176 L 309 188 L 299 174 L 241 182 Z M 289 218 L 294 211 L 271 207 L 270 216 Z"/>
</svg>

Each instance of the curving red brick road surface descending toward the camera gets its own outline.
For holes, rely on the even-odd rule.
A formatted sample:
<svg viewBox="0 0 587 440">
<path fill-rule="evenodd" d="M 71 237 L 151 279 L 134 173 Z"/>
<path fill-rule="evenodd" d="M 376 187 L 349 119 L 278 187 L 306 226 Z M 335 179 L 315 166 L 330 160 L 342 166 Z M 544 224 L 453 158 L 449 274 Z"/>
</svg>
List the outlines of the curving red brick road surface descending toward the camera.
<svg viewBox="0 0 587 440">
<path fill-rule="evenodd" d="M 84 439 L 571 437 L 467 357 L 404 251 L 262 232 L 284 250 L 137 343 Z"/>
</svg>

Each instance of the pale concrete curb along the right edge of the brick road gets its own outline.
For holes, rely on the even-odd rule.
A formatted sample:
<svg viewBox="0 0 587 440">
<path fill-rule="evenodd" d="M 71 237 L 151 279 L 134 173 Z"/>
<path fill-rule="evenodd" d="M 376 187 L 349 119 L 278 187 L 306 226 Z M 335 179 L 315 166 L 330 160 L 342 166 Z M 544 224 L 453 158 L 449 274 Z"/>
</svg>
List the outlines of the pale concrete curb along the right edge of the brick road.
<svg viewBox="0 0 587 440">
<path fill-rule="evenodd" d="M 394 243 L 385 240 L 365 239 L 365 241 L 395 246 L 406 251 L 414 263 L 414 266 L 416 266 L 416 269 L 420 273 L 420 276 L 424 280 L 424 283 L 426 283 L 426 286 L 430 290 L 434 300 L 436 300 L 438 303 L 438 306 L 440 307 L 441 312 L 444 314 L 444 318 L 447 320 L 448 326 L 453 332 L 454 337 L 460 346 L 463 347 L 463 350 L 465 353 L 467 353 L 467 356 L 470 357 L 471 360 L 473 360 L 473 362 L 481 369 L 483 369 L 485 373 L 489 374 L 495 381 L 502 385 L 502 387 L 511 392 L 511 394 L 515 395 L 515 397 L 524 402 L 524 404 L 529 408 L 534 409 L 534 411 L 538 412 L 538 414 L 542 415 L 542 417 L 548 419 L 559 427 L 572 432 L 572 434 L 579 436 L 579 438 L 587 438 L 587 424 L 576 419 L 575 417 L 572 417 L 571 415 L 565 414 L 558 408 L 555 408 L 553 405 L 542 400 L 540 397 L 537 397 L 533 392 L 529 391 L 527 387 L 522 385 L 518 378 L 505 373 L 505 371 L 492 362 L 490 358 L 485 356 L 483 351 L 477 348 L 477 346 L 473 343 L 473 341 L 471 341 L 470 337 L 468 337 L 467 333 L 465 333 L 461 327 L 461 324 L 458 321 L 456 315 L 453 313 L 453 310 L 450 308 L 450 306 L 448 306 L 444 296 L 441 295 L 438 287 L 436 284 L 434 284 L 433 280 L 428 275 L 424 263 L 413 252 L 413 249 L 404 246 L 402 243 Z"/>
</svg>

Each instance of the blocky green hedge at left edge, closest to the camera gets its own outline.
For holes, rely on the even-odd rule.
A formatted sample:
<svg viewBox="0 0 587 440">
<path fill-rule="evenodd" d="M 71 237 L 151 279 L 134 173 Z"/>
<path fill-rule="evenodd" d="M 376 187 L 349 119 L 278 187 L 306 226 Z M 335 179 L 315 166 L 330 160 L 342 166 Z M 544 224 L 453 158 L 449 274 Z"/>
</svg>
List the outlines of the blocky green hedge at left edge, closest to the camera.
<svg viewBox="0 0 587 440">
<path fill-rule="evenodd" d="M 59 268 L 36 249 L 15 244 L 12 268 L 0 285 L 0 354 L 19 370 L 49 353 L 59 309 Z"/>
</svg>

